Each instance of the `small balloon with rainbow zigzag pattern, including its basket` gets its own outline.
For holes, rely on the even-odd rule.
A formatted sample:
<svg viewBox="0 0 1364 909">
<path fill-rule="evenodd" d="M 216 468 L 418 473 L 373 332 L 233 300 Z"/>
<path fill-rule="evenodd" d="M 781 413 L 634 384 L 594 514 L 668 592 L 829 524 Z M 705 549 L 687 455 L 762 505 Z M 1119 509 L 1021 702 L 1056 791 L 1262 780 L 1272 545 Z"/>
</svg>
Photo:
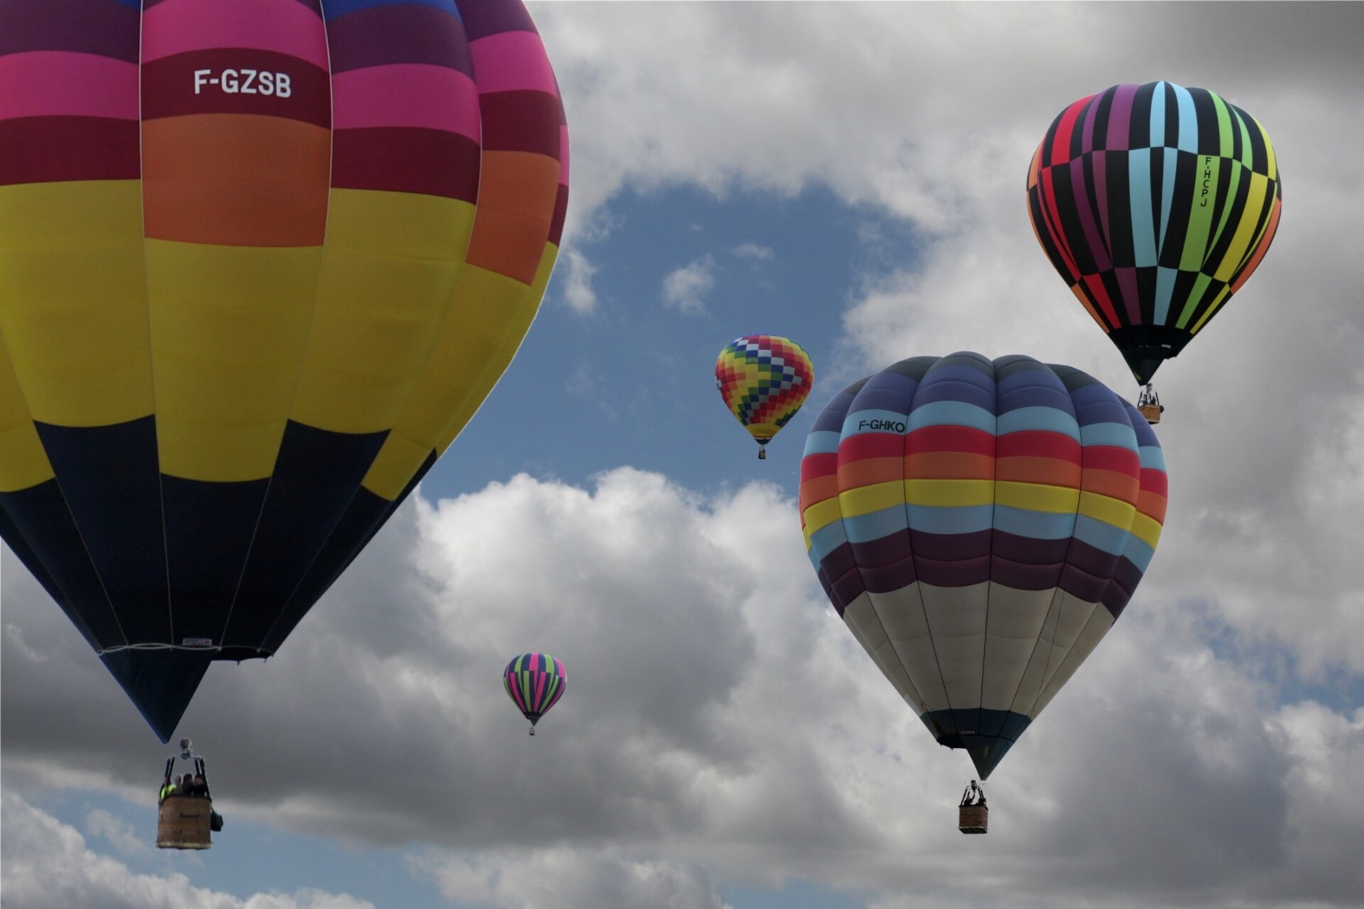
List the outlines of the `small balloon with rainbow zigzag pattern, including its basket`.
<svg viewBox="0 0 1364 909">
<path fill-rule="evenodd" d="M 715 384 L 724 406 L 758 443 L 767 443 L 795 416 L 814 386 L 814 364 L 790 338 L 753 334 L 735 338 L 715 361 Z"/>
</svg>

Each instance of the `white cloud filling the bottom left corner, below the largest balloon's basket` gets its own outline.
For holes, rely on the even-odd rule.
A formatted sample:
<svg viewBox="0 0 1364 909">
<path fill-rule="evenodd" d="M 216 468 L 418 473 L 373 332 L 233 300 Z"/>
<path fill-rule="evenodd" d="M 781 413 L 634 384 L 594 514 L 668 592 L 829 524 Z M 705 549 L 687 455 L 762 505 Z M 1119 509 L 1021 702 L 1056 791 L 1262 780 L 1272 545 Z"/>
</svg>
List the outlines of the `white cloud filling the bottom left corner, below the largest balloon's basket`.
<svg viewBox="0 0 1364 909">
<path fill-rule="evenodd" d="M 134 874 L 127 865 L 91 850 L 75 827 L 64 825 L 12 792 L 3 796 L 4 905 L 23 909 L 374 909 L 348 894 L 307 889 L 292 894 L 258 893 L 246 899 L 195 887 L 183 874 Z M 115 829 L 110 818 L 91 822 L 100 835 Z M 94 831 L 93 831 L 94 833 Z"/>
</svg>

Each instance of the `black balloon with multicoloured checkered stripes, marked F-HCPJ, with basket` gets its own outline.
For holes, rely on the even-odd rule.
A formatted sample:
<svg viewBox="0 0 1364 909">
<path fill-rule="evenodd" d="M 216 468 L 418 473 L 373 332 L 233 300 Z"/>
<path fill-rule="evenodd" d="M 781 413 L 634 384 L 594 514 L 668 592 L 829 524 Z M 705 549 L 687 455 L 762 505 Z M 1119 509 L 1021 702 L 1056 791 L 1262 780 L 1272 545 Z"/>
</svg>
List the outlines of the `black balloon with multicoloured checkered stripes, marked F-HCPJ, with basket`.
<svg viewBox="0 0 1364 909">
<path fill-rule="evenodd" d="M 1038 243 L 1147 398 L 1161 363 L 1260 264 L 1282 195 L 1264 128 L 1173 82 L 1113 86 L 1065 108 L 1027 176 Z"/>
</svg>

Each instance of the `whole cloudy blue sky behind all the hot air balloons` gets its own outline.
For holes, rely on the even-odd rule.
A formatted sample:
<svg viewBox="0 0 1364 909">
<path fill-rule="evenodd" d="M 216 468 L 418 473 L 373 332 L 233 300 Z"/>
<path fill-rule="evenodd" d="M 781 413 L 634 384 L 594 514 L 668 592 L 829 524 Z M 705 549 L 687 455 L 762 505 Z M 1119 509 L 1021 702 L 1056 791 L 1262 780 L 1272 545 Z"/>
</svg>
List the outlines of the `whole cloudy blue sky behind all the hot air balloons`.
<svg viewBox="0 0 1364 909">
<path fill-rule="evenodd" d="M 1364 905 L 1364 5 L 532 3 L 572 136 L 565 247 L 419 493 L 181 735 L 226 818 L 153 848 L 166 748 L 0 553 L 4 909 Z M 805 433 L 898 360 L 1117 350 L 1027 222 L 1069 102 L 1166 79 L 1269 131 L 1284 218 L 1157 378 L 1170 477 L 1121 621 L 990 777 L 805 556 Z M 713 363 L 783 334 L 757 461 Z M 563 660 L 525 735 L 501 684 Z"/>
</svg>

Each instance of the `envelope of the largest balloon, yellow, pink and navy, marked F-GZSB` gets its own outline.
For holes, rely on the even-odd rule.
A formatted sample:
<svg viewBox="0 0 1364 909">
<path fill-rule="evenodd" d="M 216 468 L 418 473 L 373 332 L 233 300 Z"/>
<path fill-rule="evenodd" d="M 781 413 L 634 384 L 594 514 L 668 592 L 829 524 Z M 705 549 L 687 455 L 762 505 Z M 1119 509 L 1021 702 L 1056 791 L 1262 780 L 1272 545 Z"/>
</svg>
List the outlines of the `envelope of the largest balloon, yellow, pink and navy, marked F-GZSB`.
<svg viewBox="0 0 1364 909">
<path fill-rule="evenodd" d="M 0 534 L 162 741 L 502 375 L 566 135 L 520 0 L 0 0 Z"/>
</svg>

